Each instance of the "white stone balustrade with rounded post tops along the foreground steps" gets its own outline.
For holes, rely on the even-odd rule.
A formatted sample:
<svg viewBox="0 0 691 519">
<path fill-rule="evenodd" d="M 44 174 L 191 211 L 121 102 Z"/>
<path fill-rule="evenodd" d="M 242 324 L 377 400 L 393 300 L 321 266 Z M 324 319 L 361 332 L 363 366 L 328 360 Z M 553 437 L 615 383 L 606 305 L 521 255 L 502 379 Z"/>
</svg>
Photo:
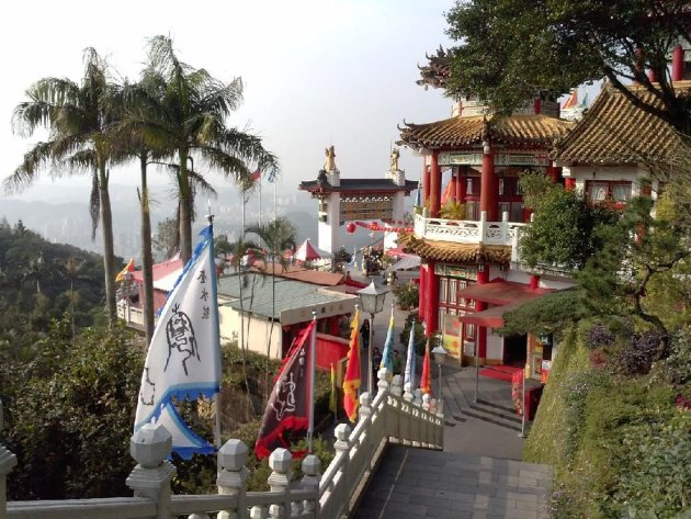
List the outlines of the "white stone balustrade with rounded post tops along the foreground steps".
<svg viewBox="0 0 691 519">
<path fill-rule="evenodd" d="M 386 370 L 380 370 L 378 377 L 374 400 L 367 393 L 361 395 L 355 427 L 341 424 L 336 428 L 336 455 L 324 474 L 319 459 L 310 454 L 302 462 L 302 481 L 294 481 L 290 451 L 276 449 L 269 458 L 271 490 L 247 492 L 249 449 L 240 440 L 228 440 L 217 455 L 218 494 L 175 496 L 170 487 L 175 467 L 167 460 L 170 433 L 163 426 L 147 425 L 131 440 L 137 465 L 126 483 L 134 497 L 5 503 L 7 476 L 16 458 L 0 445 L 0 519 L 207 519 L 214 512 L 219 519 L 331 519 L 351 515 L 387 442 L 443 448 L 441 405 L 433 409 L 426 398 L 428 410 L 419 394 L 415 400 L 408 391 L 400 395 L 400 376 L 394 377 L 393 387 Z M 0 427 L 1 410 L 0 404 Z"/>
</svg>

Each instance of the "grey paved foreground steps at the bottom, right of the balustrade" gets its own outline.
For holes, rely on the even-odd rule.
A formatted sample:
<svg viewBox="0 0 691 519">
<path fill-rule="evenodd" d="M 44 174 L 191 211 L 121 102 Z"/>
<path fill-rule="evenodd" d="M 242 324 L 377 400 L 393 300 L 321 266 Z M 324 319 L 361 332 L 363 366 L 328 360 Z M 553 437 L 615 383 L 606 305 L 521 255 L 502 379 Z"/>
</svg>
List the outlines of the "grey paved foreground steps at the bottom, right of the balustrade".
<svg viewBox="0 0 691 519">
<path fill-rule="evenodd" d="M 552 467 L 389 445 L 355 519 L 548 518 Z"/>
</svg>

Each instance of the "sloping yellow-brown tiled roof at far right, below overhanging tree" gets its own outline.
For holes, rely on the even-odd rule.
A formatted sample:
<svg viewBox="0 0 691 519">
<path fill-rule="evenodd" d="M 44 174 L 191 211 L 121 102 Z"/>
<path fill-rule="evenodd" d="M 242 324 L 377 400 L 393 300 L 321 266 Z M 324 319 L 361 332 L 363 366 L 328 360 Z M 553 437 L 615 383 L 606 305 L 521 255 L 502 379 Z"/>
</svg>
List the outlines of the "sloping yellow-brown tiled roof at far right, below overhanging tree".
<svg viewBox="0 0 691 519">
<path fill-rule="evenodd" d="M 684 94 L 691 81 L 678 81 L 675 89 Z M 661 108 L 653 93 L 631 89 L 643 102 Z M 632 104 L 624 93 L 605 86 L 584 119 L 557 140 L 553 158 L 578 163 L 636 163 L 667 159 L 681 144 L 677 132 L 661 119 Z"/>
</svg>

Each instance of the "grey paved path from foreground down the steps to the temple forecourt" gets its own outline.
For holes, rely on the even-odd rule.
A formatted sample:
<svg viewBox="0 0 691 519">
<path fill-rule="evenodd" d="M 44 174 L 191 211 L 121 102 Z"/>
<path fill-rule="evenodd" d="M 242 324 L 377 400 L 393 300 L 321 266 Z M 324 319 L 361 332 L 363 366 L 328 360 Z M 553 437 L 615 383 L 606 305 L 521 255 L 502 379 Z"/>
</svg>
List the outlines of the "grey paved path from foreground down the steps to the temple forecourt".
<svg viewBox="0 0 691 519">
<path fill-rule="evenodd" d="M 375 278 L 375 282 L 381 280 Z M 385 311 L 393 301 L 390 294 L 387 297 Z M 388 315 L 388 311 L 382 312 L 374 320 L 374 346 L 380 350 Z M 399 335 L 407 313 L 396 309 L 394 315 L 395 345 L 405 354 Z M 439 393 L 438 368 L 432 371 L 432 388 Z M 475 369 L 444 366 L 444 451 L 389 445 L 355 518 L 548 517 L 552 469 L 520 462 L 524 439 L 510 383 L 485 376 L 477 380 L 476 399 Z"/>
</svg>

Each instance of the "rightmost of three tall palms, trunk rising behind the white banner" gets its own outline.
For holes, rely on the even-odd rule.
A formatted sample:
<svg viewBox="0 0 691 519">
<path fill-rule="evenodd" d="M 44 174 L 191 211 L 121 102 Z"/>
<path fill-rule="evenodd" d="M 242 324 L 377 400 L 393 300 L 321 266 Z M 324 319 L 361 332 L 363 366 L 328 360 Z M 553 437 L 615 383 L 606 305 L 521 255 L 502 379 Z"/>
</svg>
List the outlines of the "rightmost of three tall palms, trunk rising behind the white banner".
<svg viewBox="0 0 691 519">
<path fill-rule="evenodd" d="M 186 262 L 192 255 L 193 213 L 189 158 L 199 156 L 209 168 L 236 180 L 250 177 L 248 163 L 269 177 L 277 172 L 279 165 L 259 137 L 226 126 L 226 117 L 242 100 L 239 78 L 224 83 L 206 70 L 180 61 L 172 40 L 166 36 L 149 42 L 148 56 L 145 74 L 157 76 L 162 95 L 157 106 L 150 106 L 154 110 L 132 119 L 132 123 L 152 148 L 166 149 L 168 156 L 177 159 L 181 258 Z"/>
</svg>

